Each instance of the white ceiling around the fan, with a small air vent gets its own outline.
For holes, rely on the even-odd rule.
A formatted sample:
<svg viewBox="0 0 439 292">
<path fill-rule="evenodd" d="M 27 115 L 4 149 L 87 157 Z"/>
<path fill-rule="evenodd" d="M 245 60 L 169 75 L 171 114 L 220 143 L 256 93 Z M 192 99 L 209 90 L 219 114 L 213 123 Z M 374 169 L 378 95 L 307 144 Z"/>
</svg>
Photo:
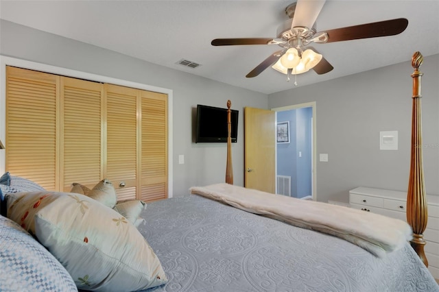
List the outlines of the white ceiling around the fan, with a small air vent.
<svg viewBox="0 0 439 292">
<path fill-rule="evenodd" d="M 270 1 L 0 1 L 0 17 L 128 56 L 261 93 L 294 88 L 266 69 L 246 78 L 277 45 L 213 47 L 213 38 L 275 38 L 293 0 Z M 439 53 L 439 1 L 327 0 L 317 30 L 406 18 L 397 36 L 314 44 L 333 71 L 297 75 L 298 86 Z M 191 69 L 186 59 L 201 64 Z M 422 67 L 421 67 L 422 68 Z"/>
</svg>

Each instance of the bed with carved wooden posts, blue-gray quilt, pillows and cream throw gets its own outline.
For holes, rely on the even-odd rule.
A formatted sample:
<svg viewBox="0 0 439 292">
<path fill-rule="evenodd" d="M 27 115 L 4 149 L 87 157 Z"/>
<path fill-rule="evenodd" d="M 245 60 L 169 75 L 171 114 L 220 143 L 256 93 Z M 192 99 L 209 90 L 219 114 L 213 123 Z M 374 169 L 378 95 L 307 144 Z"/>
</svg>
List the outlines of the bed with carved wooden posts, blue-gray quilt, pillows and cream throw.
<svg viewBox="0 0 439 292">
<path fill-rule="evenodd" d="M 439 291 L 423 254 L 422 147 L 414 147 L 421 142 L 420 53 L 412 61 L 410 226 L 234 186 L 229 137 L 225 183 L 148 204 L 116 202 L 107 180 L 56 193 L 3 175 L 0 291 Z"/>
</svg>

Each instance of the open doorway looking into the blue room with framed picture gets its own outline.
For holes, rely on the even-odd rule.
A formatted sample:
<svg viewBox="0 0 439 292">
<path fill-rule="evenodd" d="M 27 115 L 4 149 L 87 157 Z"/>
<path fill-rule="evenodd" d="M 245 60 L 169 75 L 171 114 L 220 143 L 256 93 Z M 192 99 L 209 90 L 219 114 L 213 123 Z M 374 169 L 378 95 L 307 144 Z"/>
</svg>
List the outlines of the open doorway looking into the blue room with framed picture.
<svg viewBox="0 0 439 292">
<path fill-rule="evenodd" d="M 316 200 L 316 102 L 272 108 L 276 138 L 276 193 Z"/>
</svg>

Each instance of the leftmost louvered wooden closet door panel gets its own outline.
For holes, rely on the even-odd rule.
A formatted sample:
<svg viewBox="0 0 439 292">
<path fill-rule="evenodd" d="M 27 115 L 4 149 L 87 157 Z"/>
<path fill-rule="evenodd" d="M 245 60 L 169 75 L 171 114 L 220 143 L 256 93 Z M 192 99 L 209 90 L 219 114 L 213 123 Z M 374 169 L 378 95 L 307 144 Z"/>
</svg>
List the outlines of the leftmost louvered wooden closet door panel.
<svg viewBox="0 0 439 292">
<path fill-rule="evenodd" d="M 6 170 L 57 190 L 60 77 L 6 69 Z"/>
</svg>

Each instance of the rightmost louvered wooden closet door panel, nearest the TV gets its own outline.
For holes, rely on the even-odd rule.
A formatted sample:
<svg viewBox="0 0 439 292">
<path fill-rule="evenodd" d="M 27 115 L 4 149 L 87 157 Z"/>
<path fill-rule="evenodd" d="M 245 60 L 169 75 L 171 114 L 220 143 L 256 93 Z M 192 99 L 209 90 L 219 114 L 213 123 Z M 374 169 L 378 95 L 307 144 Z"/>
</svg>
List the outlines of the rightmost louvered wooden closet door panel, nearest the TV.
<svg viewBox="0 0 439 292">
<path fill-rule="evenodd" d="M 141 199 L 167 197 L 167 95 L 141 91 Z"/>
</svg>

